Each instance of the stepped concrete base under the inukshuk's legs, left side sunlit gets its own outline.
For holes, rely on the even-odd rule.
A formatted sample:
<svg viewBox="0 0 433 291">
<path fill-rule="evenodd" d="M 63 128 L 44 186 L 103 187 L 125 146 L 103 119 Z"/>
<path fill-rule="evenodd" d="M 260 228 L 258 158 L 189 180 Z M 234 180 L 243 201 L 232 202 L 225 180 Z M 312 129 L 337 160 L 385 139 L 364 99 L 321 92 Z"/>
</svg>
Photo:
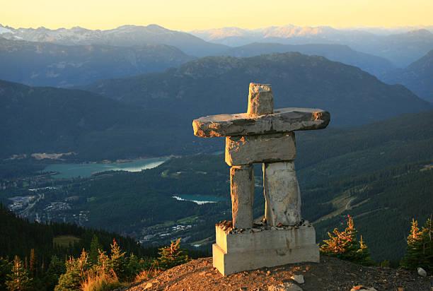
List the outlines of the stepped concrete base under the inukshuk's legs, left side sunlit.
<svg viewBox="0 0 433 291">
<path fill-rule="evenodd" d="M 213 264 L 222 275 L 287 263 L 319 262 L 316 232 L 311 225 L 241 233 L 226 233 L 217 225 L 216 230 Z"/>
</svg>

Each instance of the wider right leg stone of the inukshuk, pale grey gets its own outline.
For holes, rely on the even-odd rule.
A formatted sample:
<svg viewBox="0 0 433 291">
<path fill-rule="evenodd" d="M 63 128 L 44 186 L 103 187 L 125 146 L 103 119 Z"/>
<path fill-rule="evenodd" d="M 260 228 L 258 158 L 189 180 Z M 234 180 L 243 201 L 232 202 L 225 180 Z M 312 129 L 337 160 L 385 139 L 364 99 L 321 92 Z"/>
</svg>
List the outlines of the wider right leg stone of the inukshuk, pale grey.
<svg viewBox="0 0 433 291">
<path fill-rule="evenodd" d="M 263 163 L 263 186 L 268 224 L 295 225 L 301 221 L 301 191 L 293 161 Z"/>
</svg>

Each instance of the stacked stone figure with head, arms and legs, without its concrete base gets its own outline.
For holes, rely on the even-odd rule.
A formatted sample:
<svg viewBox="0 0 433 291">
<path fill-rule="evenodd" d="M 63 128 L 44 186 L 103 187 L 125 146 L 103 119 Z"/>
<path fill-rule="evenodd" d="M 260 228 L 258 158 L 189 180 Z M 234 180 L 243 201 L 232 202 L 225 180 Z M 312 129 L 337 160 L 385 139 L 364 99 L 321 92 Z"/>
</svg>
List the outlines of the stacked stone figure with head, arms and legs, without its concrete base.
<svg viewBox="0 0 433 291">
<path fill-rule="evenodd" d="M 294 131 L 324 129 L 329 121 L 330 114 L 323 109 L 274 110 L 271 85 L 250 83 L 247 113 L 212 115 L 192 122 L 196 136 L 226 137 L 233 227 L 253 226 L 253 163 L 259 162 L 263 167 L 267 224 L 301 222 Z"/>
</svg>

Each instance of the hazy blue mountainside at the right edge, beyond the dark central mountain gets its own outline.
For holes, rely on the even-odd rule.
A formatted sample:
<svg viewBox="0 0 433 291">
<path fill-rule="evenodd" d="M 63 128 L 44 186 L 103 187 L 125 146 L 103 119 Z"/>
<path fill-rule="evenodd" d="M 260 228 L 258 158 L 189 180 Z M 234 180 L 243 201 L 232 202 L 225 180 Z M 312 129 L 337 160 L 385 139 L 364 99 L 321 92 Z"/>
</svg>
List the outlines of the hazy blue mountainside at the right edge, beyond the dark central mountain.
<svg viewBox="0 0 433 291">
<path fill-rule="evenodd" d="M 403 84 L 433 103 L 433 49 L 407 68 L 389 71 L 382 79 L 390 84 Z"/>
</svg>

